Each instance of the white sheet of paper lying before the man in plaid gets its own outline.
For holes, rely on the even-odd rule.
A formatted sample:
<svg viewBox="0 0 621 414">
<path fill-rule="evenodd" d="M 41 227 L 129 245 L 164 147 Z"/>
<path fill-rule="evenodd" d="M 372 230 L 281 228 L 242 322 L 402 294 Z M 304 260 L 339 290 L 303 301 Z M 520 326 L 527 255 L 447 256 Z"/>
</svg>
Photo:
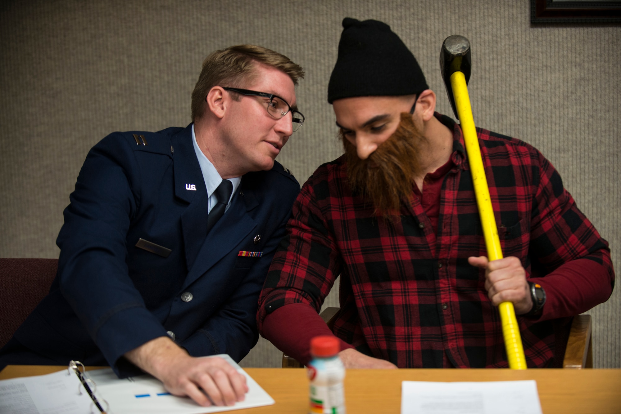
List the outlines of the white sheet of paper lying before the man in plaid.
<svg viewBox="0 0 621 414">
<path fill-rule="evenodd" d="M 401 383 L 401 414 L 542 414 L 537 382 Z"/>
</svg>

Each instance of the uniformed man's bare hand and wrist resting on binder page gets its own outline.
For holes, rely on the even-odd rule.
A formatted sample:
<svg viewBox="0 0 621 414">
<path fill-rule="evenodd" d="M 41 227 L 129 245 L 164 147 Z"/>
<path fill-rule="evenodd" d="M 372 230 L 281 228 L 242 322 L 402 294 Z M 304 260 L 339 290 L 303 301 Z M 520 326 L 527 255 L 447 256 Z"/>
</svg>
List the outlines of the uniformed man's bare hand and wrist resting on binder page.
<svg viewBox="0 0 621 414">
<path fill-rule="evenodd" d="M 246 378 L 224 359 L 194 358 L 168 337 L 148 341 L 125 358 L 163 382 L 171 394 L 188 396 L 203 407 L 233 405 L 248 392 Z"/>
</svg>

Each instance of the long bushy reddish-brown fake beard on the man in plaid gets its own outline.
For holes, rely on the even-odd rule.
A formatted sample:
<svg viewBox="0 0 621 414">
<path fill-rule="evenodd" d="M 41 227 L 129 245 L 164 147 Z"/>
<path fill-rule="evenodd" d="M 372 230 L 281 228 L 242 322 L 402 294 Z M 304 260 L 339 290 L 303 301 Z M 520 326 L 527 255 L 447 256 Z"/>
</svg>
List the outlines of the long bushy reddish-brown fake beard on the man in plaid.
<svg viewBox="0 0 621 414">
<path fill-rule="evenodd" d="M 342 133 L 340 138 L 351 188 L 370 201 L 376 213 L 386 218 L 398 216 L 401 200 L 412 194 L 414 177 L 420 170 L 420 147 L 426 142 L 412 115 L 402 113 L 397 130 L 364 160 L 358 158 L 356 147 Z"/>
</svg>

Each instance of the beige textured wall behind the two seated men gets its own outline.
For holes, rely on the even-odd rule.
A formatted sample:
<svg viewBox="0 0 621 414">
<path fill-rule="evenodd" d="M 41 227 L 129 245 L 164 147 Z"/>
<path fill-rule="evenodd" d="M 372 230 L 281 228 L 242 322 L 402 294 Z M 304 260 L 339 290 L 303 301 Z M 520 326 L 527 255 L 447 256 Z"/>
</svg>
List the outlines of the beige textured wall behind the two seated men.
<svg viewBox="0 0 621 414">
<path fill-rule="evenodd" d="M 190 94 L 212 50 L 256 43 L 307 71 L 297 89 L 307 122 L 279 161 L 304 182 L 340 154 L 326 87 L 345 16 L 388 22 L 419 59 L 438 110 L 445 37 L 473 46 L 469 92 L 479 126 L 532 143 L 620 258 L 621 29 L 532 27 L 530 1 L 2 2 L 0 6 L 0 256 L 57 257 L 75 178 L 111 131 L 189 123 Z M 329 301 L 335 304 L 335 298 Z M 594 315 L 598 367 L 621 366 L 621 294 Z M 278 366 L 261 341 L 243 364 Z"/>
</svg>

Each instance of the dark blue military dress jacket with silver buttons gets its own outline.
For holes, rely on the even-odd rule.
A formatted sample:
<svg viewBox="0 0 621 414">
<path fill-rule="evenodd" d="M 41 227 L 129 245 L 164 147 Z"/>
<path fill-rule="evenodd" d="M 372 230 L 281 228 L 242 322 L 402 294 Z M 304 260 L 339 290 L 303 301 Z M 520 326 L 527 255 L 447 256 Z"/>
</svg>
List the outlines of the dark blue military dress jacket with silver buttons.
<svg viewBox="0 0 621 414">
<path fill-rule="evenodd" d="M 299 188 L 278 162 L 245 174 L 207 234 L 191 126 L 110 134 L 71 193 L 50 294 L 14 338 L 59 364 L 107 361 L 121 377 L 138 371 L 124 353 L 168 331 L 190 355 L 240 361 L 258 340 L 258 295 Z M 140 249 L 139 239 L 171 252 Z"/>
</svg>

